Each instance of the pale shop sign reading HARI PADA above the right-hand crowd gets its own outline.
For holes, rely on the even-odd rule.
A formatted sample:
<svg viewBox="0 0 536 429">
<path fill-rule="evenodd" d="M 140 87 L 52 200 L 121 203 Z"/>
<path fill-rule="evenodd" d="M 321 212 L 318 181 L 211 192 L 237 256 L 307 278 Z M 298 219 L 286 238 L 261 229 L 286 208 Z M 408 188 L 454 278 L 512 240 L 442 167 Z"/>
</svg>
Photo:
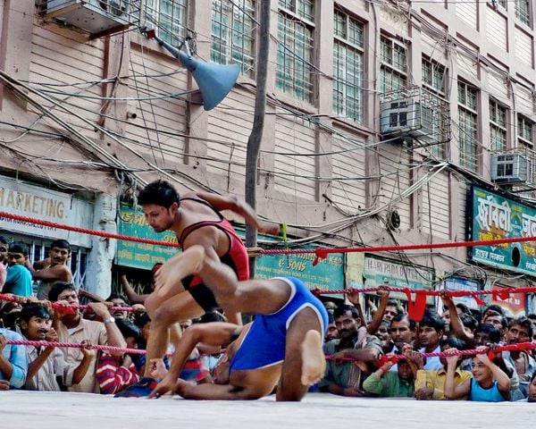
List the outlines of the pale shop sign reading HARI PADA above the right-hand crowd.
<svg viewBox="0 0 536 429">
<path fill-rule="evenodd" d="M 364 287 L 376 288 L 387 284 L 395 288 L 432 290 L 434 270 L 422 265 L 406 265 L 392 259 L 364 257 Z M 406 300 L 406 294 L 391 292 L 390 297 Z M 428 297 L 433 303 L 433 297 Z"/>
</svg>

